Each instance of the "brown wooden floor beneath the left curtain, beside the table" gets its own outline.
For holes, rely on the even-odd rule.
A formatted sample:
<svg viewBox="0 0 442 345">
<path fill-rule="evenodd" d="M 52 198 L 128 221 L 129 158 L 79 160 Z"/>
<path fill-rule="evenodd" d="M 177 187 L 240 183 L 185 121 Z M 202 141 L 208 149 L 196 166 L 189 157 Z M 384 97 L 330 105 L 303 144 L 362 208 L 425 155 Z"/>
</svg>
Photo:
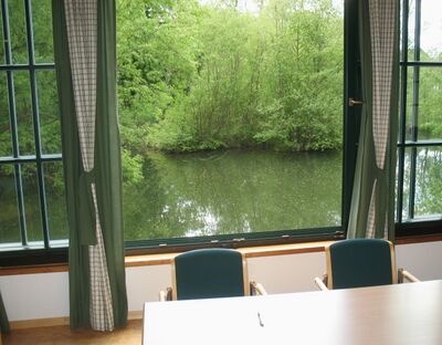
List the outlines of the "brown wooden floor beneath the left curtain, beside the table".
<svg viewBox="0 0 442 345">
<path fill-rule="evenodd" d="M 131 320 L 126 328 L 112 333 L 91 330 L 71 331 L 69 326 L 15 330 L 3 334 L 3 345 L 140 345 L 141 320 Z"/>
</svg>

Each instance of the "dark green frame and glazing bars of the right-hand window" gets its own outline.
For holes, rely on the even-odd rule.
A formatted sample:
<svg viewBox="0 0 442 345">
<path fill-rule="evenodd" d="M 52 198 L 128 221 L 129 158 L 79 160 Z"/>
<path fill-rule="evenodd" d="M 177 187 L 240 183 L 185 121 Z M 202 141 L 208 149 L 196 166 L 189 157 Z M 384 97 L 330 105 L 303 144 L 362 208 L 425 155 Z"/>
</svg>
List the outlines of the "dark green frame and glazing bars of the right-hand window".
<svg viewBox="0 0 442 345">
<path fill-rule="evenodd" d="M 419 139 L 419 79 L 421 69 L 442 67 L 442 62 L 421 61 L 421 0 L 415 0 L 414 10 L 414 52 L 413 60 L 409 61 L 408 39 L 409 39 L 409 20 L 410 9 L 409 0 L 402 0 L 401 9 L 401 29 L 402 29 L 402 51 L 400 61 L 400 112 L 399 112 L 399 140 L 398 140 L 398 177 L 397 177 L 397 205 L 396 205 L 396 236 L 411 237 L 423 234 L 439 234 L 442 231 L 442 216 L 434 219 L 417 218 L 414 215 L 415 200 L 415 179 L 417 179 L 417 153 L 420 147 L 442 147 L 442 139 Z M 409 67 L 413 69 L 412 83 L 412 111 L 407 112 L 408 98 L 408 72 Z M 411 139 L 407 139 L 407 117 L 411 116 Z M 411 148 L 410 161 L 410 180 L 409 180 L 409 200 L 408 200 L 408 217 L 403 217 L 403 189 L 404 189 L 404 160 L 406 150 Z M 438 219 L 439 218 L 439 219 Z"/>
</svg>

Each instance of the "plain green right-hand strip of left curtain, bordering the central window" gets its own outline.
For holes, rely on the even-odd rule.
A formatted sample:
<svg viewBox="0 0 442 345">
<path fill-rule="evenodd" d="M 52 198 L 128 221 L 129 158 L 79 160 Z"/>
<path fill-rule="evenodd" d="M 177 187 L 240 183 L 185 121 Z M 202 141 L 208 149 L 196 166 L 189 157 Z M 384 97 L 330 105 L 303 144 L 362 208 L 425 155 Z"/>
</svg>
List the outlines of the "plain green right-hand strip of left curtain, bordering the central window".
<svg viewBox="0 0 442 345">
<path fill-rule="evenodd" d="M 98 209 L 114 301 L 114 322 L 127 323 L 123 222 L 123 174 L 116 91 L 115 0 L 98 1 L 98 69 L 95 176 Z"/>
</svg>

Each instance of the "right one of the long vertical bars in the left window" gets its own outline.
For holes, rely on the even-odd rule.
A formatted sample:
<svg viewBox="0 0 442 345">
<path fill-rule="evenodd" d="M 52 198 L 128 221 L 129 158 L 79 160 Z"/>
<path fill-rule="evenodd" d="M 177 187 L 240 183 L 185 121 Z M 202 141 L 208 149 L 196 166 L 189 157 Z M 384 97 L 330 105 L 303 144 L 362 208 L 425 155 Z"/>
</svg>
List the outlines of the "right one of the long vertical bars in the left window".
<svg viewBox="0 0 442 345">
<path fill-rule="evenodd" d="M 28 56 L 30 64 L 30 82 L 31 82 L 31 101 L 32 101 L 32 122 L 34 130 L 34 142 L 35 142 L 35 157 L 36 157 L 36 175 L 39 180 L 39 198 L 41 208 L 41 220 L 43 226 L 43 240 L 44 248 L 50 247 L 49 239 L 49 222 L 48 222 L 48 207 L 46 207 L 46 196 L 44 192 L 44 176 L 43 176 L 43 164 L 41 160 L 42 149 L 41 149 L 41 137 L 40 137 L 40 118 L 39 118 L 39 100 L 36 92 L 36 81 L 35 81 L 35 59 L 34 59 L 34 40 L 33 40 L 33 29 L 32 29 L 32 7 L 31 0 L 24 0 L 25 19 L 27 19 L 27 34 L 28 34 Z"/>
</svg>

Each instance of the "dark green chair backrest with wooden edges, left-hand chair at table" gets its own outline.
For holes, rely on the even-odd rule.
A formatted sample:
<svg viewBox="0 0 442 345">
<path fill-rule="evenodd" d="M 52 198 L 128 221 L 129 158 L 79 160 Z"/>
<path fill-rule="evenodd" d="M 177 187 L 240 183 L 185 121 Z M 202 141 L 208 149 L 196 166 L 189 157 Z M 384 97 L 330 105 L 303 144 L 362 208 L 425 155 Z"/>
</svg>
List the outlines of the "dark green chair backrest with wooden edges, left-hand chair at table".
<svg viewBox="0 0 442 345">
<path fill-rule="evenodd" d="M 177 255 L 172 285 L 172 300 L 250 294 L 245 260 L 231 249 L 199 249 Z"/>
</svg>

